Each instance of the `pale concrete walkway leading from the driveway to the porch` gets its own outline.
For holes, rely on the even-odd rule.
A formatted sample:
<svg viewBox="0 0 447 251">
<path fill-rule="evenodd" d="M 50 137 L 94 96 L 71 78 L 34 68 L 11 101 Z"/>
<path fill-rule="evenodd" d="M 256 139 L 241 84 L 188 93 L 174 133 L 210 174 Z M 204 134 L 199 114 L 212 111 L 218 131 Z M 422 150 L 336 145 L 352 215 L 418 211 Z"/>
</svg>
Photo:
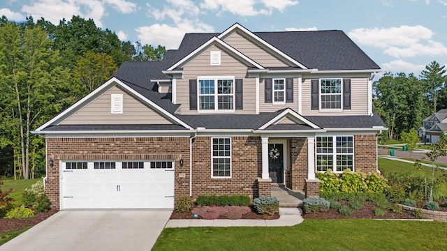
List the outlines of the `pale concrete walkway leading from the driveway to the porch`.
<svg viewBox="0 0 447 251">
<path fill-rule="evenodd" d="M 165 227 L 291 227 L 303 221 L 300 208 L 279 208 L 277 220 L 169 220 Z"/>
</svg>

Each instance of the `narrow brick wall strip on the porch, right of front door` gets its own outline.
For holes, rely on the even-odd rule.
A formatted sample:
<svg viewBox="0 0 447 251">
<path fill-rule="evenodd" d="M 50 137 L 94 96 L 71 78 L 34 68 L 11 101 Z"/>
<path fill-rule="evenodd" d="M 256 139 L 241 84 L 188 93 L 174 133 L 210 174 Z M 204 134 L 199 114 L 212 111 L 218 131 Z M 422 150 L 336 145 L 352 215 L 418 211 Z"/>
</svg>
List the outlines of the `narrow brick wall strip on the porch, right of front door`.
<svg viewBox="0 0 447 251">
<path fill-rule="evenodd" d="M 291 146 L 291 177 L 288 188 L 292 190 L 304 190 L 305 178 L 307 178 L 307 138 L 290 139 Z"/>
</svg>

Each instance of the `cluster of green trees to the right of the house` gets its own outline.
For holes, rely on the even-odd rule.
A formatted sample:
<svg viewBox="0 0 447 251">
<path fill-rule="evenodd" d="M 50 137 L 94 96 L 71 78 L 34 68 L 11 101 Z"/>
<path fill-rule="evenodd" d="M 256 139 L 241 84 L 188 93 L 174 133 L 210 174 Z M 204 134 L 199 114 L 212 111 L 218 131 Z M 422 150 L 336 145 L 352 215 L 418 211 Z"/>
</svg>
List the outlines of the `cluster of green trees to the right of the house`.
<svg viewBox="0 0 447 251">
<path fill-rule="evenodd" d="M 432 61 L 416 77 L 413 73 L 385 73 L 373 84 L 374 111 L 388 127 L 389 139 L 422 126 L 422 121 L 447 108 L 447 70 Z"/>
</svg>

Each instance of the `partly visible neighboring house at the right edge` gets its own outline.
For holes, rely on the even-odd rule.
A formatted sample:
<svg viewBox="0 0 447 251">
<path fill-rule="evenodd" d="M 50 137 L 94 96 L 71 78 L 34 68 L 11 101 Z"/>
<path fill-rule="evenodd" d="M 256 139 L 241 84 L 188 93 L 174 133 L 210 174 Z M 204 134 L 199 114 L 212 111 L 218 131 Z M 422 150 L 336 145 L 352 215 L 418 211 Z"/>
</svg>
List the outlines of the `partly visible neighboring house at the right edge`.
<svg viewBox="0 0 447 251">
<path fill-rule="evenodd" d="M 438 112 L 427 116 L 422 123 L 423 128 L 425 128 L 425 142 L 436 144 L 441 131 L 447 132 L 447 109 L 440 109 Z"/>
</svg>

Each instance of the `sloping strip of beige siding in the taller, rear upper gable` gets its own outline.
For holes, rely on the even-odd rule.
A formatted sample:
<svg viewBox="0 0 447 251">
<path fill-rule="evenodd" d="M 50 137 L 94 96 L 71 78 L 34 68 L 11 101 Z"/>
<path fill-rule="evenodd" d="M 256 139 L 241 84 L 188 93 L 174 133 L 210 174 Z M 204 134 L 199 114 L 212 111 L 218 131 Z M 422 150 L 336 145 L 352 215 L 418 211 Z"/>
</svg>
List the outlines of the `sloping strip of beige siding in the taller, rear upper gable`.
<svg viewBox="0 0 447 251">
<path fill-rule="evenodd" d="M 250 59 L 256 61 L 256 63 L 261 64 L 264 67 L 279 67 L 287 66 L 285 63 L 279 61 L 272 54 L 266 52 L 258 45 L 251 43 L 251 41 L 244 38 L 240 33 L 234 32 L 227 38 L 223 40 L 228 45 L 231 45 L 236 50 L 242 52 L 242 54 L 248 56 Z"/>
</svg>

